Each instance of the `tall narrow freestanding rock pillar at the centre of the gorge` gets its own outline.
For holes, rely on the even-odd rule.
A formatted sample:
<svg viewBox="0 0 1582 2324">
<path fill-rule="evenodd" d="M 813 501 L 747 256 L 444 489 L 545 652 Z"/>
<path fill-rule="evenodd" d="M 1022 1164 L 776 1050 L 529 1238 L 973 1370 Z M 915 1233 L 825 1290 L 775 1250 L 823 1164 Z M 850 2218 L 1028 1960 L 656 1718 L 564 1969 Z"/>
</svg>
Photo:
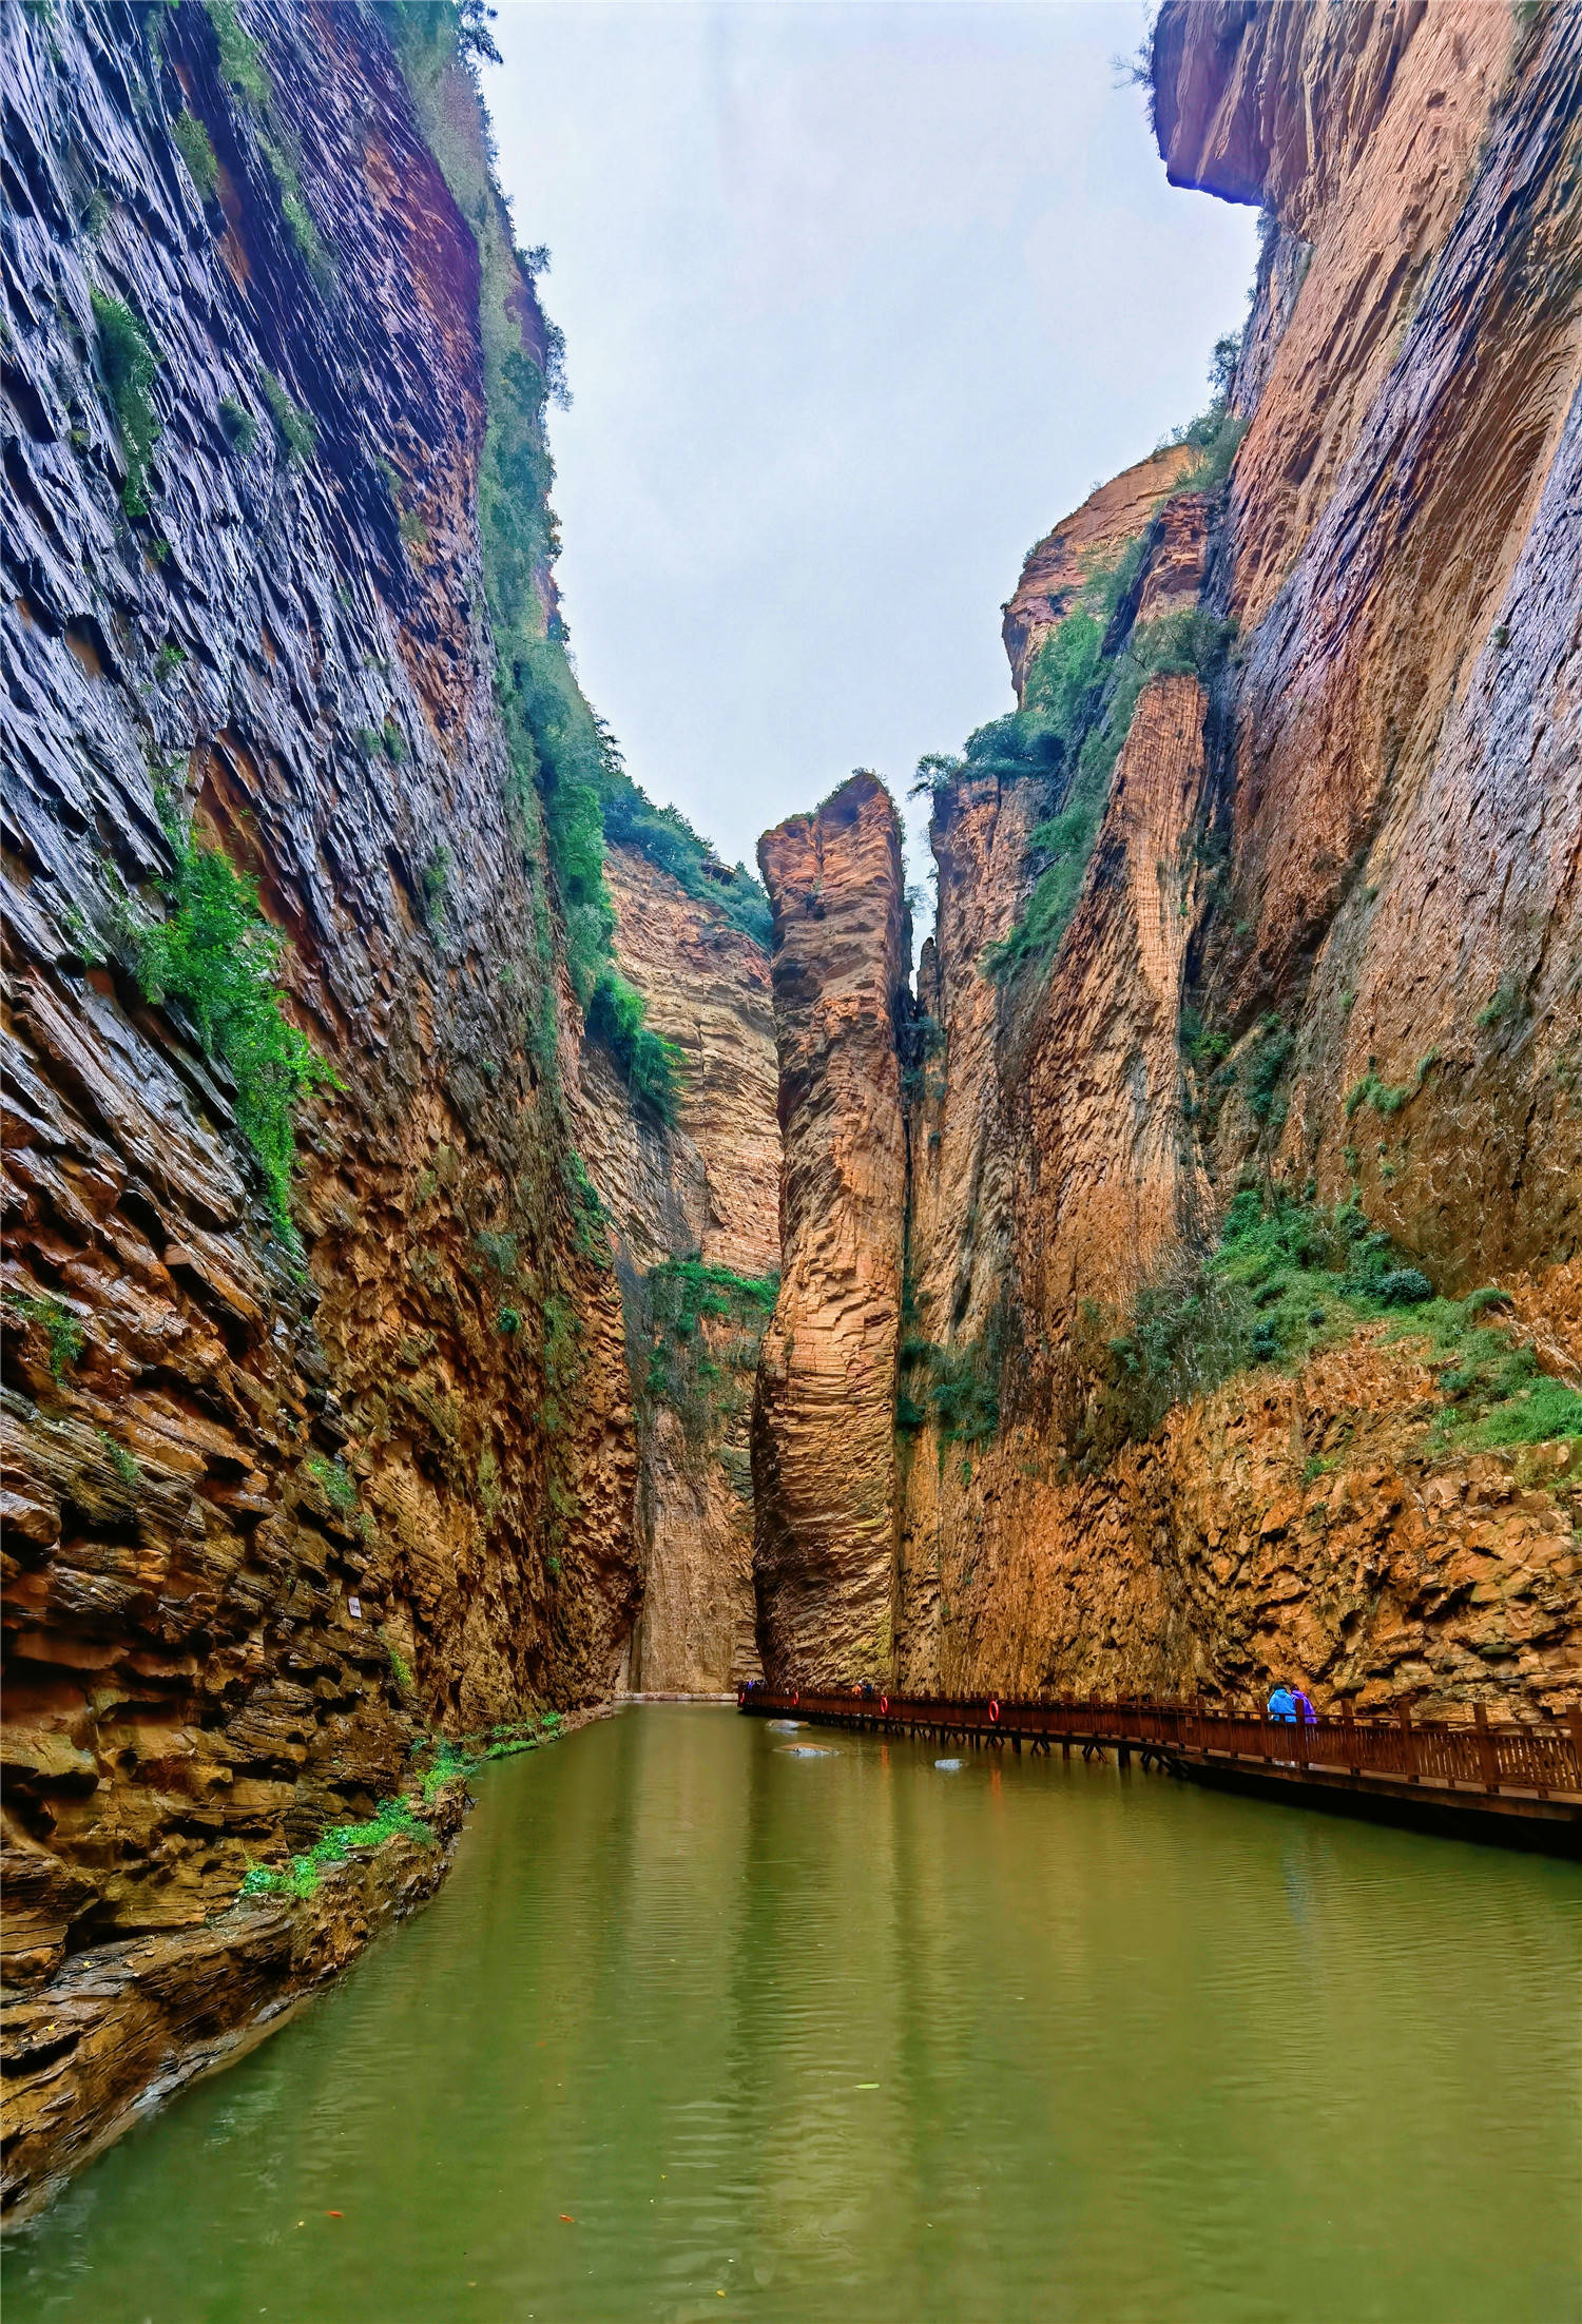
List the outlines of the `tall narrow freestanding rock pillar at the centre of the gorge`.
<svg viewBox="0 0 1582 2324">
<path fill-rule="evenodd" d="M 757 1624 L 771 1678 L 850 1685 L 892 1659 L 908 962 L 890 795 L 855 774 L 767 832 L 760 867 L 785 1160 L 753 1408 Z"/>
</svg>

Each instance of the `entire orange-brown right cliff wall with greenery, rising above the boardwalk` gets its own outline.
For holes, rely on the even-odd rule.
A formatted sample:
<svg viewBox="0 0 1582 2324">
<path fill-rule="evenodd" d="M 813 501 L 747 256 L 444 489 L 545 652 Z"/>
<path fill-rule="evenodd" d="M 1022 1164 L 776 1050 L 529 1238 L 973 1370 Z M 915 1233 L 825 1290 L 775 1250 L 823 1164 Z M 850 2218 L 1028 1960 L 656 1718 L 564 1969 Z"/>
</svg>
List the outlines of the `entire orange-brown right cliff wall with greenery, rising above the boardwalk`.
<svg viewBox="0 0 1582 2324">
<path fill-rule="evenodd" d="M 1168 174 L 1264 207 L 1252 311 L 1031 553 L 1017 711 L 936 765 L 894 1469 L 871 1383 L 801 1413 L 892 1529 L 901 1685 L 1582 1692 L 1580 26 L 1159 12 Z M 836 1155 L 887 1281 L 887 1064 L 860 1122 L 797 1046 L 887 937 L 794 925 L 788 1285 Z M 757 1534 L 808 1538 L 769 1462 Z M 873 1676 L 843 1590 L 771 1673 L 804 1636 Z"/>
</svg>

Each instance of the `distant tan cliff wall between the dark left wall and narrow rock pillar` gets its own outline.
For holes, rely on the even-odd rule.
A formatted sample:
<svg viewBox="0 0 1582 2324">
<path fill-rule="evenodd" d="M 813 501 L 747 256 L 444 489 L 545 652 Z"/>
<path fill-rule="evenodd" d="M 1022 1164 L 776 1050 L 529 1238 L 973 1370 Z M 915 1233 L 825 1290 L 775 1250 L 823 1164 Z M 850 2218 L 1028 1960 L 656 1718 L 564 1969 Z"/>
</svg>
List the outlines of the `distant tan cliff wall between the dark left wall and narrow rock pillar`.
<svg viewBox="0 0 1582 2324">
<path fill-rule="evenodd" d="M 750 1415 L 781 1269 L 769 957 L 722 909 L 613 846 L 616 960 L 674 1043 L 674 1122 L 623 1102 L 588 1043 L 578 1134 L 604 1197 L 639 1429 L 643 1611 L 630 1685 L 716 1694 L 760 1676 Z"/>
</svg>

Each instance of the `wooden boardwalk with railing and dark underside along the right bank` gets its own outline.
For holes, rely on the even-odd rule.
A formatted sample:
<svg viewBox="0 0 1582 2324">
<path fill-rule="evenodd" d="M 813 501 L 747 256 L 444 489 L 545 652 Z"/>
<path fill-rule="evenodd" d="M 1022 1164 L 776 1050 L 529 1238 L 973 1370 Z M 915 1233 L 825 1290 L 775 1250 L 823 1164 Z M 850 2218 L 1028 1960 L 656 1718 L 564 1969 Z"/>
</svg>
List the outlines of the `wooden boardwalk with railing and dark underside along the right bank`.
<svg viewBox="0 0 1582 2324">
<path fill-rule="evenodd" d="M 866 1734 L 925 1736 L 976 1750 L 1136 1755 L 1194 1783 L 1303 1806 L 1410 1822 L 1470 1838 L 1582 1857 L 1582 1708 L 1505 1724 L 1482 1703 L 1464 1724 L 1412 1720 L 1271 1720 L 1150 1701 L 999 1701 L 943 1694 L 832 1694 L 739 1687 L 741 1710 Z"/>
</svg>

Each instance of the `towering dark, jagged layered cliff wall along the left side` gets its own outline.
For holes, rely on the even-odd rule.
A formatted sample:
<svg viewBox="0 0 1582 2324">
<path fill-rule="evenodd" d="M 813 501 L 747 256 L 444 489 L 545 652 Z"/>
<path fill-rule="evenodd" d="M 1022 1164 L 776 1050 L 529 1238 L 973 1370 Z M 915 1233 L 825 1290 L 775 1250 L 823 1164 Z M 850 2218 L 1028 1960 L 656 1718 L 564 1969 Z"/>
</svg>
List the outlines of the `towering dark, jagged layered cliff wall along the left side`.
<svg viewBox="0 0 1582 2324">
<path fill-rule="evenodd" d="M 495 709 L 474 225 L 372 12 L 246 28 L 265 95 L 197 7 L 5 9 L 9 1982 L 200 1952 L 249 1859 L 397 1789 L 418 1717 L 606 1694 L 641 1587 L 578 1020 Z M 453 100 L 481 153 L 460 67 Z M 158 356 L 144 514 L 91 293 Z M 139 971 L 188 820 L 337 1074 L 295 1232 Z M 105 2096 L 70 2050 L 7 2075 L 56 2152 Z"/>
</svg>

